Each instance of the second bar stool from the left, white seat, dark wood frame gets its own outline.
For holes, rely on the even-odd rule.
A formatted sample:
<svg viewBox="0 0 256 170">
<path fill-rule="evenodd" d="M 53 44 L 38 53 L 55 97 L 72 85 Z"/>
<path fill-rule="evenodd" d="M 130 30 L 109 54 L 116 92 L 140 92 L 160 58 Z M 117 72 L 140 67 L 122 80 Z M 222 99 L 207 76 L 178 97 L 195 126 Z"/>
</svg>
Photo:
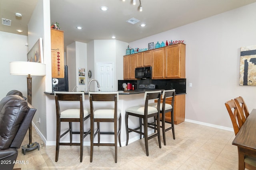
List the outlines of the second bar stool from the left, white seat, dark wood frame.
<svg viewBox="0 0 256 170">
<path fill-rule="evenodd" d="M 90 128 L 91 128 L 91 151 L 90 162 L 93 158 L 94 146 L 114 146 L 115 147 L 115 162 L 117 163 L 117 137 L 121 147 L 121 113 L 117 109 L 118 92 L 89 92 L 90 96 Z M 100 102 L 96 106 L 96 102 Z M 103 103 L 104 102 L 104 103 Z M 106 104 L 106 105 L 104 105 Z M 117 125 L 118 121 L 118 125 Z M 96 131 L 94 131 L 94 122 L 97 122 Z M 100 131 L 100 122 L 114 123 L 114 132 Z M 94 143 L 94 137 L 98 134 L 98 143 Z M 100 135 L 114 135 L 114 143 L 100 143 Z"/>
</svg>

